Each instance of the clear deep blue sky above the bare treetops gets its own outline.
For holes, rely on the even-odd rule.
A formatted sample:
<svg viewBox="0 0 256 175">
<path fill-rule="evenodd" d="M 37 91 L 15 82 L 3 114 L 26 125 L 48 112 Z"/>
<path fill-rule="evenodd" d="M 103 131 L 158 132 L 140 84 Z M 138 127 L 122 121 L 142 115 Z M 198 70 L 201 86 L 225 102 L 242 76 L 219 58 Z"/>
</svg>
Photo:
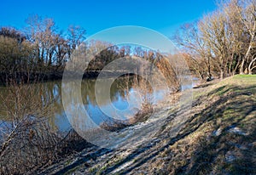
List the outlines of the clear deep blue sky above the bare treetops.
<svg viewBox="0 0 256 175">
<path fill-rule="evenodd" d="M 214 0 L 2 0 L 0 5 L 0 26 L 21 29 L 30 14 L 38 14 L 53 18 L 61 30 L 80 25 L 87 36 L 117 25 L 140 25 L 170 37 L 179 25 L 216 8 Z"/>
</svg>

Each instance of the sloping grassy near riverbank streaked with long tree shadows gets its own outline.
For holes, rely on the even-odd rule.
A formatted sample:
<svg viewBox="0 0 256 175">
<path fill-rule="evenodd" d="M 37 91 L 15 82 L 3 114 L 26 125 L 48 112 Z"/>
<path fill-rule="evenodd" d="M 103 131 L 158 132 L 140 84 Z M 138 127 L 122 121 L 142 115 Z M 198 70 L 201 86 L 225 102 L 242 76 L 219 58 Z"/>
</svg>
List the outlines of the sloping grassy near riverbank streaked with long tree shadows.
<svg viewBox="0 0 256 175">
<path fill-rule="evenodd" d="M 255 83 L 256 76 L 233 76 L 190 89 L 192 108 L 184 103 L 179 111 L 165 106 L 154 113 L 161 125 L 154 137 L 143 138 L 131 149 L 94 146 L 39 172 L 254 174 Z"/>
</svg>

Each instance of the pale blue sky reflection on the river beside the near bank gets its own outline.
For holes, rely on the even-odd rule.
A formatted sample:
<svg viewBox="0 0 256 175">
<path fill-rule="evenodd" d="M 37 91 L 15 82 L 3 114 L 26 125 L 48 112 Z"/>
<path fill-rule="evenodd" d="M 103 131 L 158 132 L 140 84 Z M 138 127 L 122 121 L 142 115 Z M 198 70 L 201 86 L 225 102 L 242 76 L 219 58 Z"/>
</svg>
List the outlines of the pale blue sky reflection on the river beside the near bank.
<svg viewBox="0 0 256 175">
<path fill-rule="evenodd" d="M 189 80 L 187 82 L 185 81 L 183 83 L 182 90 L 193 88 L 197 81 L 197 78 L 193 78 L 192 84 Z M 158 89 L 154 92 L 154 96 L 151 99 L 152 103 L 157 104 L 160 100 L 166 97 L 167 93 L 168 91 L 165 88 Z M 137 92 L 137 89 L 134 88 L 129 89 L 129 93 L 126 97 L 119 93 L 119 91 L 115 92 L 114 96 L 111 97 L 112 104 L 102 104 L 102 106 L 98 106 L 98 104 L 94 103 L 95 99 L 91 99 L 92 97 L 93 96 L 90 95 L 84 96 L 84 101 L 86 101 L 84 108 L 96 124 L 101 124 L 102 121 L 111 121 L 111 117 L 119 120 L 129 119 L 134 116 L 138 110 L 140 110 L 140 105 L 142 103 L 140 94 Z M 107 111 L 107 115 L 102 111 Z M 71 127 L 67 117 L 63 116 L 64 114 L 64 111 L 62 111 L 61 114 L 57 114 L 55 116 L 55 123 L 61 131 L 65 131 Z"/>
</svg>

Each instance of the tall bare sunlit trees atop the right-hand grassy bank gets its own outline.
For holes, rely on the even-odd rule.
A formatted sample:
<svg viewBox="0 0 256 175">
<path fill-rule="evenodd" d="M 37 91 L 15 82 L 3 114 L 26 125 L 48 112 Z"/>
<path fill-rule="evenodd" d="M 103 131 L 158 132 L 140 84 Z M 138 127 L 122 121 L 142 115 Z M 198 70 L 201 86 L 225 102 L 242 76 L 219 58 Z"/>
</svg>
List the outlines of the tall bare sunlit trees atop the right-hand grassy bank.
<svg viewBox="0 0 256 175">
<path fill-rule="evenodd" d="M 227 0 L 195 23 L 184 24 L 176 41 L 191 71 L 221 79 L 256 71 L 256 1 Z"/>
</svg>

